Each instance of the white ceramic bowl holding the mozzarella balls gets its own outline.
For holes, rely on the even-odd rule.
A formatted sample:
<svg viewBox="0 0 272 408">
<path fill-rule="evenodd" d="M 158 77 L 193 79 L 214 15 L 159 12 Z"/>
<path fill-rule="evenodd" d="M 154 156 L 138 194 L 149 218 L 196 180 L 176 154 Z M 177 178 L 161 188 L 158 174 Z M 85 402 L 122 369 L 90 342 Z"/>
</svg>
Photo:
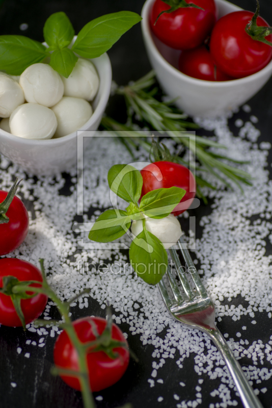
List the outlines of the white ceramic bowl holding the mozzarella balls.
<svg viewBox="0 0 272 408">
<path fill-rule="evenodd" d="M 112 84 L 112 66 L 107 54 L 91 59 L 100 78 L 98 93 L 92 102 L 94 113 L 78 130 L 96 131 L 104 113 Z M 86 138 L 91 141 L 91 138 Z M 49 140 L 30 140 L 0 129 L 0 152 L 32 174 L 52 175 L 69 170 L 77 159 L 77 132 Z"/>
</svg>

